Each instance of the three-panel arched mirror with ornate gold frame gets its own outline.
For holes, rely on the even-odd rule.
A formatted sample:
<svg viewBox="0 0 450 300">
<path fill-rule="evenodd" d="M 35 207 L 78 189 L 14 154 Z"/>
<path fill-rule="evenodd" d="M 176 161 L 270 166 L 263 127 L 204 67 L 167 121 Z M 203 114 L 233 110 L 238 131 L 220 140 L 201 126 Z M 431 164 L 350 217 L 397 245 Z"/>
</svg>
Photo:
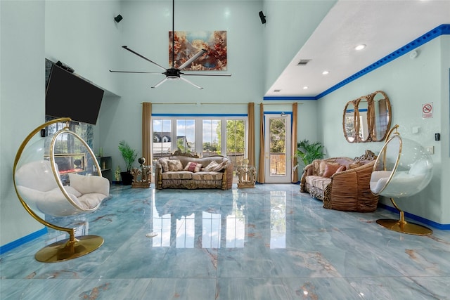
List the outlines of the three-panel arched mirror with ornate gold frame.
<svg viewBox="0 0 450 300">
<path fill-rule="evenodd" d="M 367 104 L 364 105 L 364 103 Z M 391 105 L 384 91 L 375 91 L 367 96 L 361 96 L 345 105 L 342 129 L 349 143 L 383 141 L 390 129 L 390 124 Z"/>
</svg>

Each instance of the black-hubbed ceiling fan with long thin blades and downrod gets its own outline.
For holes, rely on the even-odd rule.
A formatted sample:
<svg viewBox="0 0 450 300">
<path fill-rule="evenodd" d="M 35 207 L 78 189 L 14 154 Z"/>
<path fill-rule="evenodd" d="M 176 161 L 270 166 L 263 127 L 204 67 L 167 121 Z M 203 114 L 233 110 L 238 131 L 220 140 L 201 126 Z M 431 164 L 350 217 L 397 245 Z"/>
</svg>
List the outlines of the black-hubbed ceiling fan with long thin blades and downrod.
<svg viewBox="0 0 450 300">
<path fill-rule="evenodd" d="M 157 84 L 155 84 L 154 86 L 152 86 L 152 89 L 157 88 L 158 86 L 160 86 L 161 84 L 163 84 L 165 81 L 167 80 L 184 80 L 186 82 L 188 82 L 188 84 L 192 84 L 193 86 L 195 86 L 198 89 L 203 89 L 203 87 L 198 86 L 197 84 L 194 84 L 193 82 L 189 81 L 188 79 L 184 78 L 184 76 L 231 76 L 231 74 L 219 74 L 219 73 L 184 73 L 181 72 L 181 70 L 183 70 L 185 67 L 188 67 L 189 65 L 191 65 L 191 63 L 193 63 L 195 60 L 197 60 L 198 58 L 200 58 L 200 56 L 203 56 L 205 53 L 207 53 L 207 51 L 205 49 L 201 49 L 200 51 L 198 51 L 198 53 L 195 53 L 194 56 L 192 56 L 191 58 L 189 58 L 188 60 L 186 60 L 185 63 L 183 63 L 182 65 L 180 65 L 179 67 L 175 67 L 175 30 L 174 30 L 174 19 L 175 19 L 175 0 L 172 0 L 172 67 L 169 67 L 168 69 L 166 69 L 165 67 L 162 67 L 161 65 L 158 65 L 158 63 L 155 63 L 152 60 L 149 60 L 148 58 L 146 58 L 145 56 L 137 53 L 136 51 L 131 50 L 131 48 L 129 48 L 128 46 L 122 46 L 122 48 L 124 48 L 125 50 L 130 51 L 131 53 L 135 54 L 136 56 L 139 56 L 140 58 L 143 58 L 144 60 L 147 60 L 149 63 L 153 63 L 153 65 L 158 66 L 160 69 L 164 70 L 164 72 L 134 72 L 134 71 L 113 71 L 110 70 L 110 72 L 117 72 L 117 73 L 142 73 L 142 74 L 165 74 L 165 79 L 162 79 L 160 82 L 158 82 Z"/>
</svg>

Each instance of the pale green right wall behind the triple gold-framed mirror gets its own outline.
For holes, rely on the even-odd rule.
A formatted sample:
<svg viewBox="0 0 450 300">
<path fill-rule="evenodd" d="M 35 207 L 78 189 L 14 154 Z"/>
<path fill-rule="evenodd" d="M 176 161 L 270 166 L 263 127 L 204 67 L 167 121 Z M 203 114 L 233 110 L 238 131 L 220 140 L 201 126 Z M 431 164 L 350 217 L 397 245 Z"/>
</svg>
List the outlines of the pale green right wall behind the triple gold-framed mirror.
<svg viewBox="0 0 450 300">
<path fill-rule="evenodd" d="M 449 178 L 449 168 L 443 167 L 449 165 L 450 63 L 448 54 L 442 57 L 449 52 L 448 39 L 433 39 L 418 48 L 417 58 L 411 59 L 407 53 L 319 100 L 319 140 L 326 146 L 328 157 L 357 157 L 366 149 L 378 153 L 384 143 L 347 143 L 342 131 L 345 104 L 374 91 L 387 93 L 392 105 L 392 125 L 399 124 L 401 136 L 435 148 L 435 175 L 430 185 L 418 195 L 396 202 L 404 211 L 437 223 L 450 223 L 450 200 L 446 197 L 450 188 L 444 184 L 449 181 L 442 181 Z M 422 105 L 428 102 L 434 104 L 435 114 L 423 119 Z M 412 133 L 413 126 L 419 127 L 419 133 Z M 441 141 L 435 141 L 436 132 L 441 133 Z M 383 202 L 390 204 L 389 200 Z"/>
</svg>

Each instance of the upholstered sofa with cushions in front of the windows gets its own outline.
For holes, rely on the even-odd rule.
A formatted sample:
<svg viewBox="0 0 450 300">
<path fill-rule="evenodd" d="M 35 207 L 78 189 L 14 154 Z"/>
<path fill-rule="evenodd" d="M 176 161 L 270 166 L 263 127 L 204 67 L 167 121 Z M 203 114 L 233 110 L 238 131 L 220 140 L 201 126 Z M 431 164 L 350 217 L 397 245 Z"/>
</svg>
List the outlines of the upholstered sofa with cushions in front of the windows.
<svg viewBox="0 0 450 300">
<path fill-rule="evenodd" d="M 161 157 L 155 165 L 155 187 L 220 188 L 228 190 L 233 184 L 233 163 L 225 156 L 198 157 L 176 151 Z"/>
</svg>

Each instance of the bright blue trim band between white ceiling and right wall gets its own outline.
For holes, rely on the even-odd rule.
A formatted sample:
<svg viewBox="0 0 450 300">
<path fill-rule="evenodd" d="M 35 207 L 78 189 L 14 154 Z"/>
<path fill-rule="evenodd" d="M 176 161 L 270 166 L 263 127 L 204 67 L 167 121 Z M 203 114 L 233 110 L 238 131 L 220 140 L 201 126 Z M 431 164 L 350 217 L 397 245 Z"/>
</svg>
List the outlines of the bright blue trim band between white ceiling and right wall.
<svg viewBox="0 0 450 300">
<path fill-rule="evenodd" d="M 335 86 L 331 86 L 330 89 L 327 89 L 326 91 L 323 91 L 322 93 L 319 93 L 317 96 L 310 96 L 310 97 L 300 97 L 300 96 L 285 96 L 285 97 L 272 97 L 267 96 L 264 97 L 263 100 L 319 100 L 323 96 L 328 95 L 329 93 L 332 93 L 333 91 L 336 91 L 337 89 L 342 88 L 342 86 L 345 86 L 349 84 L 350 82 L 354 81 L 355 79 L 358 79 L 361 76 L 364 76 L 365 74 L 368 74 L 369 72 L 372 72 L 373 70 L 378 69 L 378 67 L 381 67 L 383 65 L 386 65 L 387 63 L 390 63 L 392 60 L 399 58 L 400 56 L 403 56 L 406 53 L 409 53 L 409 51 L 412 51 L 415 48 L 418 48 L 419 46 L 422 46 L 423 44 L 428 43 L 432 39 L 435 39 L 436 37 L 439 37 L 444 34 L 450 34 L 450 24 L 442 24 L 436 27 L 433 30 L 430 30 L 429 32 L 423 34 L 422 36 L 418 37 L 417 39 L 414 39 L 413 41 L 409 42 L 405 46 L 397 49 L 396 51 L 388 54 L 384 58 L 381 58 L 380 60 L 376 61 L 372 65 L 368 65 L 368 67 L 365 67 L 363 70 L 356 72 L 352 76 L 348 77 L 347 79 L 344 79 L 340 81 L 340 83 L 336 84 Z"/>
</svg>

